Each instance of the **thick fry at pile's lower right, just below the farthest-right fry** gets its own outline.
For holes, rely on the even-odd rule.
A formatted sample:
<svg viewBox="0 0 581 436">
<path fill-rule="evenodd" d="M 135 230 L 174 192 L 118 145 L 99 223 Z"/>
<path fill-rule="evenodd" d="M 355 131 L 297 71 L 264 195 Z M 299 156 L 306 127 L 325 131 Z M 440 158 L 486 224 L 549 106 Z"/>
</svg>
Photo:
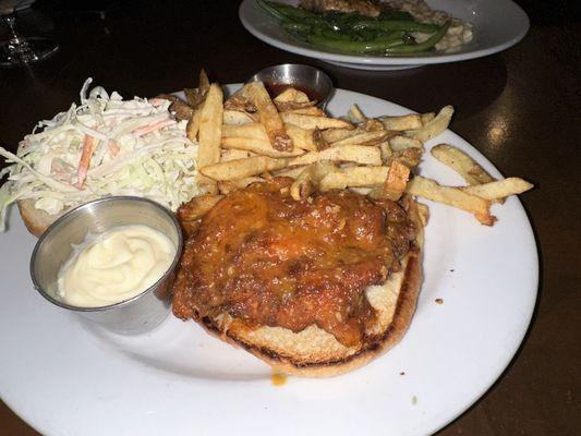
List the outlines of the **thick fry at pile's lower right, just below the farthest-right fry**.
<svg viewBox="0 0 581 436">
<path fill-rule="evenodd" d="M 485 226 L 493 226 L 496 219 L 489 211 L 491 201 L 469 194 L 458 187 L 441 186 L 431 179 L 414 177 L 408 182 L 406 192 L 470 211 Z"/>
</svg>

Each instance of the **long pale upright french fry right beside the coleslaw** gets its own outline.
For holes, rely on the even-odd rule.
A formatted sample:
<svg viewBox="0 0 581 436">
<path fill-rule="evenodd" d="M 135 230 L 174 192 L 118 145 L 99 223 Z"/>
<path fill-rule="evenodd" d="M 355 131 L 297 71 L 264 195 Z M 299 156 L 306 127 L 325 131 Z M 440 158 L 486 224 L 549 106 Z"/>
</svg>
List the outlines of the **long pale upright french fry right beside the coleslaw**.
<svg viewBox="0 0 581 436">
<path fill-rule="evenodd" d="M 220 141 L 222 135 L 222 89 L 211 84 L 206 100 L 199 110 L 197 166 L 199 168 L 220 161 Z M 216 183 L 201 178 L 201 185 L 208 192 L 216 192 Z"/>
</svg>

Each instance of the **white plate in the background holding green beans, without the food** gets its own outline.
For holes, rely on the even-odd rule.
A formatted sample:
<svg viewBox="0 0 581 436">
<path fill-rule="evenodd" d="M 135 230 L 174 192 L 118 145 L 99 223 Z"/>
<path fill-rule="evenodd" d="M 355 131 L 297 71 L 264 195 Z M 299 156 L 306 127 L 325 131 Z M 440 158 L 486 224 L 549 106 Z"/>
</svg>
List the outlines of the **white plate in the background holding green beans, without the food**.
<svg viewBox="0 0 581 436">
<path fill-rule="evenodd" d="M 276 0 L 298 4 L 298 0 Z M 342 55 L 315 49 L 285 31 L 278 21 L 268 15 L 255 0 L 244 0 L 240 5 L 240 21 L 258 39 L 296 55 L 359 70 L 401 70 L 428 63 L 457 62 L 493 55 L 520 41 L 529 31 L 529 17 L 510 0 L 427 0 L 434 10 L 472 23 L 474 38 L 452 53 L 435 52 L 415 57 L 378 57 Z"/>
</svg>

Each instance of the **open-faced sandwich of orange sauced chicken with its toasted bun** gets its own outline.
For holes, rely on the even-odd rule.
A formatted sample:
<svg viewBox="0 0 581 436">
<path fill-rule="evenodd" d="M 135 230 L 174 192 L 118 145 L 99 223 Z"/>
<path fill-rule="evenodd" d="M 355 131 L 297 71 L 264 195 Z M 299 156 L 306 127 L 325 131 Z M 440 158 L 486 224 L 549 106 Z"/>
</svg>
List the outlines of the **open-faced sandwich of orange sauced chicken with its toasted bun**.
<svg viewBox="0 0 581 436">
<path fill-rule="evenodd" d="M 277 372 L 331 376 L 406 332 L 420 284 L 417 205 L 348 190 L 293 199 L 288 178 L 182 206 L 189 235 L 173 313 Z M 192 219 L 192 217 L 194 217 Z"/>
</svg>

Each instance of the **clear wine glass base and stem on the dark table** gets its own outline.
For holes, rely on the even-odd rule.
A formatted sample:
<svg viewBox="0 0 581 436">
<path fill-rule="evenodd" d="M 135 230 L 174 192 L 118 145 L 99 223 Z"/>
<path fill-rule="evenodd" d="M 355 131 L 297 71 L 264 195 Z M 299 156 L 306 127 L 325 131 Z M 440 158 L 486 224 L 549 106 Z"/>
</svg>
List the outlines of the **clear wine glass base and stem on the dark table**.
<svg viewBox="0 0 581 436">
<path fill-rule="evenodd" d="M 0 15 L 11 33 L 8 41 L 0 43 L 0 66 L 27 65 L 52 56 L 59 49 L 49 38 L 20 35 L 14 10 L 21 2 L 22 0 L 0 0 Z"/>
</svg>

